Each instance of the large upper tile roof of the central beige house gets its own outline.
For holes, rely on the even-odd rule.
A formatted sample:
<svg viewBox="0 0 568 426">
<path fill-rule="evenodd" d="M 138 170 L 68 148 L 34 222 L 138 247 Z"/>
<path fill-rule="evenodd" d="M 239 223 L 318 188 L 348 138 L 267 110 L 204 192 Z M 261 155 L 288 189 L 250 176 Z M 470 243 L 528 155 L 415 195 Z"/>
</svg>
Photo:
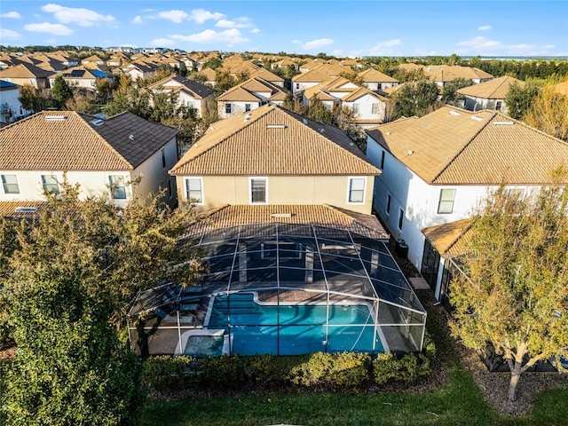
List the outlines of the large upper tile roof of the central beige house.
<svg viewBox="0 0 568 426">
<path fill-rule="evenodd" d="M 248 117 L 248 119 L 247 119 Z M 379 175 L 338 128 L 280 106 L 215 122 L 170 173 L 193 176 Z"/>
</svg>

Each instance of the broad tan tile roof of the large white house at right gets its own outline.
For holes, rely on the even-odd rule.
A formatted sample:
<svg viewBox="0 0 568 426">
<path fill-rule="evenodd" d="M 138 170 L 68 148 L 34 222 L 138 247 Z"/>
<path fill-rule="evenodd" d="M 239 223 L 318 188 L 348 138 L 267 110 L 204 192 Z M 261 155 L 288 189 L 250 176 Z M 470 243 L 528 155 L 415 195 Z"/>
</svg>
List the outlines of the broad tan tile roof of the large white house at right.
<svg viewBox="0 0 568 426">
<path fill-rule="evenodd" d="M 432 185 L 540 185 L 568 165 L 568 144 L 508 116 L 443 106 L 367 130 Z"/>
</svg>

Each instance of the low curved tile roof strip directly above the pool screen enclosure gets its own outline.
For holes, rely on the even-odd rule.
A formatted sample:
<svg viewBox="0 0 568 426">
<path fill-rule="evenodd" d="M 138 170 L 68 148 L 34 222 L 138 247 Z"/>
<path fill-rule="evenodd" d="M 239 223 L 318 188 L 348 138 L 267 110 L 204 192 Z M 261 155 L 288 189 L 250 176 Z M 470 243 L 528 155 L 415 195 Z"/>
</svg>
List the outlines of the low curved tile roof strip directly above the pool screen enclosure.
<svg viewBox="0 0 568 426">
<path fill-rule="evenodd" d="M 287 217 L 289 214 L 289 217 Z M 272 217 L 278 215 L 278 217 Z M 365 215 L 348 209 L 324 205 L 258 205 L 225 206 L 203 213 L 201 220 L 190 230 L 189 235 L 207 233 L 238 225 L 302 224 L 343 229 L 351 233 L 388 240 L 389 234 L 373 215 Z"/>
</svg>

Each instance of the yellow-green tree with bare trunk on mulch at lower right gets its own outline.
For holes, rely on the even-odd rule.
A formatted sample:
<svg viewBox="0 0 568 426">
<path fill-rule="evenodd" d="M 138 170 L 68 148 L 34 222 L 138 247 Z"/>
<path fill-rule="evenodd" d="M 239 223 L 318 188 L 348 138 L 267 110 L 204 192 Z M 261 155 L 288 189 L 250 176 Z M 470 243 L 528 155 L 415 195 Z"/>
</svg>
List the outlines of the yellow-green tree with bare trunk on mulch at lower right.
<svg viewBox="0 0 568 426">
<path fill-rule="evenodd" d="M 568 347 L 566 176 L 556 170 L 557 185 L 525 200 L 503 186 L 490 194 L 469 231 L 465 273 L 451 287 L 453 335 L 506 360 L 511 401 L 528 368 Z"/>
</svg>

